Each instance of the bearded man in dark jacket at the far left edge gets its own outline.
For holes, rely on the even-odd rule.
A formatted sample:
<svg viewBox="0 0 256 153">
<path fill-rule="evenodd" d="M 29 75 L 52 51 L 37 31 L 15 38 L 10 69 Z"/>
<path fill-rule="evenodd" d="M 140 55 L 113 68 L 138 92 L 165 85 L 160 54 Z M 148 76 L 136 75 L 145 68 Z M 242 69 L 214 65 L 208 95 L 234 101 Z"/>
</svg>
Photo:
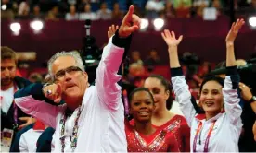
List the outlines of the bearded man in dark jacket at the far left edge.
<svg viewBox="0 0 256 153">
<path fill-rule="evenodd" d="M 28 125 L 34 120 L 22 112 L 19 107 L 13 102 L 14 93 L 19 88 L 24 88 L 31 83 L 19 76 L 16 76 L 18 57 L 17 54 L 8 47 L 1 47 L 1 132 L 4 137 L 5 146 L 9 146 L 16 132 Z"/>
</svg>

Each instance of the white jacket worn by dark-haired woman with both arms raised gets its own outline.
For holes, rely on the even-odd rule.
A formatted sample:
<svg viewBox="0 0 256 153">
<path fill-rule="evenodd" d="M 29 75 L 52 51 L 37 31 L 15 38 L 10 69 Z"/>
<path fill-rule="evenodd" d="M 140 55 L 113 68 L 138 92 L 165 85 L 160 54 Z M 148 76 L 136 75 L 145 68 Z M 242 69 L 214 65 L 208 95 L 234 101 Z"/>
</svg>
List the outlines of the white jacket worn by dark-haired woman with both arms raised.
<svg viewBox="0 0 256 153">
<path fill-rule="evenodd" d="M 190 150 L 193 152 L 193 143 L 198 129 L 198 124 L 202 122 L 201 134 L 198 134 L 196 151 L 203 152 L 207 135 L 210 131 L 212 121 L 216 120 L 209 139 L 209 152 L 238 152 L 238 140 L 242 128 L 241 113 L 237 89 L 232 89 L 230 76 L 224 80 L 224 110 L 206 121 L 204 114 L 197 114 L 190 98 L 191 94 L 186 85 L 185 76 L 172 77 L 173 90 L 176 100 L 179 102 L 182 112 L 186 117 L 186 122 L 190 126 Z M 200 141 L 200 143 L 199 143 Z"/>
</svg>

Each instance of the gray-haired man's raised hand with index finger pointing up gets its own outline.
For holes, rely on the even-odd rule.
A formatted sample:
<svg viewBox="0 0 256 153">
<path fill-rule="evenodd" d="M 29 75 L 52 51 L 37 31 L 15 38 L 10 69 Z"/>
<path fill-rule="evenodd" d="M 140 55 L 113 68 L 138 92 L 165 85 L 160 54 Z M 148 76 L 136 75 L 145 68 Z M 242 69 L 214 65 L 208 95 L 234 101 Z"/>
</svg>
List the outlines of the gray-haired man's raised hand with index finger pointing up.
<svg viewBox="0 0 256 153">
<path fill-rule="evenodd" d="M 140 18 L 134 15 L 134 6 L 129 7 L 129 11 L 122 19 L 122 25 L 119 29 L 119 36 L 126 38 L 131 35 L 135 30 L 140 28 Z"/>
</svg>

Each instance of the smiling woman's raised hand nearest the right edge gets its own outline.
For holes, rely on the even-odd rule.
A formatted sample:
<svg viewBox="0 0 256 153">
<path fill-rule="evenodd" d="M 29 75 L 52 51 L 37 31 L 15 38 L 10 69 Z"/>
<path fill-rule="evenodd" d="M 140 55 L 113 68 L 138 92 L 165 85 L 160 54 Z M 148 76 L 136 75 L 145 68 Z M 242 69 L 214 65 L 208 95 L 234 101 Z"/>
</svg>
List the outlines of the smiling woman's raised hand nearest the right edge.
<svg viewBox="0 0 256 153">
<path fill-rule="evenodd" d="M 241 27 L 245 24 L 244 19 L 237 19 L 237 22 L 233 23 L 231 26 L 231 29 L 229 30 L 226 38 L 225 38 L 225 42 L 227 44 L 234 44 L 235 39 L 237 38 L 237 33 L 239 31 L 239 29 L 241 29 Z"/>
</svg>

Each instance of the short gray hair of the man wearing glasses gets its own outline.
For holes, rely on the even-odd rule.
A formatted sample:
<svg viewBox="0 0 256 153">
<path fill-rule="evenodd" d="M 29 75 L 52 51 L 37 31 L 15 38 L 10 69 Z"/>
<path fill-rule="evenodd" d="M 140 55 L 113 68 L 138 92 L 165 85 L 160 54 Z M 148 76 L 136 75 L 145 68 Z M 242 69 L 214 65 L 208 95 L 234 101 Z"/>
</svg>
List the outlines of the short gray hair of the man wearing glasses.
<svg viewBox="0 0 256 153">
<path fill-rule="evenodd" d="M 81 68 L 81 70 L 84 72 L 85 70 L 85 66 L 83 65 L 83 60 L 80 56 L 80 53 L 78 53 L 77 51 L 71 51 L 71 52 L 59 52 L 54 54 L 48 61 L 48 73 L 50 74 L 50 76 L 52 77 L 52 79 L 54 80 L 54 74 L 52 71 L 52 65 L 55 62 L 55 60 L 58 59 L 58 57 L 62 57 L 62 56 L 71 56 L 75 59 L 76 65 Z"/>
</svg>

